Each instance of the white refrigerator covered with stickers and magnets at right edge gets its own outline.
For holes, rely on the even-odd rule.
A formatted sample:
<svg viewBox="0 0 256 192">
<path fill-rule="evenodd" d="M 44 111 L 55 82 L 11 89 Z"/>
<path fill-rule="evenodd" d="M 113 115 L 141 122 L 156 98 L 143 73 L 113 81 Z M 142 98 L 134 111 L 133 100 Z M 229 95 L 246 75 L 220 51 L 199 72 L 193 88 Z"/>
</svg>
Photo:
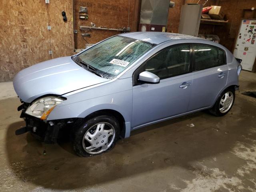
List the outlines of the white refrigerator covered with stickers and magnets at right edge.
<svg viewBox="0 0 256 192">
<path fill-rule="evenodd" d="M 234 49 L 235 58 L 242 59 L 242 68 L 252 71 L 256 58 L 256 20 L 243 19 L 241 21 L 236 45 Z"/>
</svg>

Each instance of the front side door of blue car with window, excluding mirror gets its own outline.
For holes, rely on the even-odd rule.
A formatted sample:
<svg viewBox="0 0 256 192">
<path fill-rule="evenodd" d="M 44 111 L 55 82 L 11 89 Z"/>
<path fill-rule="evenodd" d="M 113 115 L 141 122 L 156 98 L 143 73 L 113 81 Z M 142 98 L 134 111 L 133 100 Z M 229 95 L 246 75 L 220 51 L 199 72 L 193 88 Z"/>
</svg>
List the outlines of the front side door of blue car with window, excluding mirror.
<svg viewBox="0 0 256 192">
<path fill-rule="evenodd" d="M 188 44 L 170 46 L 149 58 L 134 72 L 133 128 L 187 111 L 192 88 L 191 53 Z M 160 83 L 139 82 L 138 76 L 143 71 L 156 74 Z"/>
</svg>

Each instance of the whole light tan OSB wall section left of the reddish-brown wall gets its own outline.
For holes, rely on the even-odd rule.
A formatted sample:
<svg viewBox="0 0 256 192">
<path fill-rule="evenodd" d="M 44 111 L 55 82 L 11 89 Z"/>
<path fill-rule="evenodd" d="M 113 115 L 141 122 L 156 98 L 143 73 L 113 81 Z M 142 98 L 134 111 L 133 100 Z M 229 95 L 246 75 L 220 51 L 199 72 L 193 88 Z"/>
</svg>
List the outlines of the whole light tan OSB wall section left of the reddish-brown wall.
<svg viewBox="0 0 256 192">
<path fill-rule="evenodd" d="M 0 82 L 38 62 L 73 54 L 72 0 L 2 0 L 0 21 Z"/>
</svg>

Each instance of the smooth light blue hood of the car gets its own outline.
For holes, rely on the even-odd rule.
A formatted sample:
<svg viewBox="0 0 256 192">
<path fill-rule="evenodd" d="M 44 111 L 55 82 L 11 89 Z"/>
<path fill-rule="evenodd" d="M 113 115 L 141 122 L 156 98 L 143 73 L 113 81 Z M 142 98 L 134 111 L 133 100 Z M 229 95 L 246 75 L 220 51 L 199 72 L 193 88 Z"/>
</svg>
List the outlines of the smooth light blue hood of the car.
<svg viewBox="0 0 256 192">
<path fill-rule="evenodd" d="M 14 77 L 13 86 L 24 102 L 46 95 L 62 95 L 81 88 L 106 82 L 76 64 L 72 58 L 61 57 L 26 68 Z"/>
</svg>

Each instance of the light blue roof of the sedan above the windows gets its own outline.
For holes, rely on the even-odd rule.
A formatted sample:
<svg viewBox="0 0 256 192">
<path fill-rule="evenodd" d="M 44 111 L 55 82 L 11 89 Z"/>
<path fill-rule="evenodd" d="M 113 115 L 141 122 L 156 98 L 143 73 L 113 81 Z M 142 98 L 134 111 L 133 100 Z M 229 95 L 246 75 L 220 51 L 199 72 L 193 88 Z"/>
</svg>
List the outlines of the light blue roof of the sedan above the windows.
<svg viewBox="0 0 256 192">
<path fill-rule="evenodd" d="M 160 44 L 162 42 L 171 41 L 171 40 L 180 40 L 180 39 L 201 39 L 198 37 L 178 34 L 178 33 L 167 33 L 167 32 L 130 32 L 123 33 L 120 36 L 130 37 L 154 44 Z"/>
</svg>

